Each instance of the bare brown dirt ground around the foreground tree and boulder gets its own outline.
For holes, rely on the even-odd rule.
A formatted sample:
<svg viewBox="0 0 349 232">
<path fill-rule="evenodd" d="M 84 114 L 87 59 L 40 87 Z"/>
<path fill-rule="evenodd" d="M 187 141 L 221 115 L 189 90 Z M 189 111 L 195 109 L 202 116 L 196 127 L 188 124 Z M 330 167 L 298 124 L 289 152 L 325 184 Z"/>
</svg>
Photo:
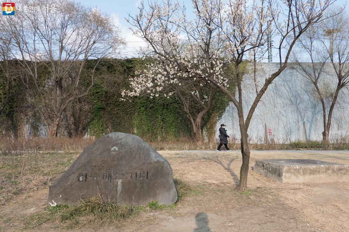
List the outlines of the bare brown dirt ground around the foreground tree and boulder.
<svg viewBox="0 0 349 232">
<path fill-rule="evenodd" d="M 250 190 L 239 193 L 235 191 L 242 162 L 239 151 L 159 153 L 170 162 L 173 176 L 192 186 L 189 197 L 175 209 L 146 211 L 114 228 L 101 225 L 73 231 L 349 231 L 349 183 L 279 183 L 250 169 Z M 349 164 L 348 151 L 252 151 L 250 166 L 255 159 L 293 158 Z M 1 207 L 0 217 L 12 218 L 0 224 L 3 231 L 18 231 L 18 215 L 42 210 L 47 192 L 30 193 L 31 197 L 18 197 Z M 49 225 L 38 230 L 59 231 Z"/>
</svg>

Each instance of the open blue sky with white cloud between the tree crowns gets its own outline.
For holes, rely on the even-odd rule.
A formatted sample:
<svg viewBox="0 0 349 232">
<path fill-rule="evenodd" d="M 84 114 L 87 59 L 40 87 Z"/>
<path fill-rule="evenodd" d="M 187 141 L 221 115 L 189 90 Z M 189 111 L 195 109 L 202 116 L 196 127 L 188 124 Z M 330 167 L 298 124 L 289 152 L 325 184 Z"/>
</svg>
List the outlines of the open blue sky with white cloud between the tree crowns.
<svg viewBox="0 0 349 232">
<path fill-rule="evenodd" d="M 337 0 L 336 5 L 345 5 L 348 0 Z M 125 17 L 128 17 L 128 13 L 131 15 L 135 15 L 138 13 L 138 6 L 140 0 L 99 0 L 99 1 L 92 1 L 92 0 L 83 0 L 80 1 L 86 6 L 91 7 L 98 7 L 102 11 L 105 11 L 107 14 L 110 14 L 114 20 L 115 23 L 120 27 L 123 37 L 125 38 L 127 42 L 126 48 L 122 51 L 122 55 L 124 57 L 133 57 L 137 56 L 136 51 L 139 49 L 139 47 L 144 47 L 146 44 L 142 41 L 142 39 L 135 37 L 132 35 L 132 32 L 128 29 L 130 26 L 126 21 Z M 148 1 L 145 0 L 145 5 L 147 6 Z M 192 1 L 191 0 L 179 0 L 180 3 L 184 3 L 187 10 L 191 11 Z M 347 6 L 349 7 L 349 6 Z M 273 49 L 274 50 L 274 49 Z M 273 55 L 275 56 L 277 54 L 277 51 L 273 51 Z"/>
</svg>

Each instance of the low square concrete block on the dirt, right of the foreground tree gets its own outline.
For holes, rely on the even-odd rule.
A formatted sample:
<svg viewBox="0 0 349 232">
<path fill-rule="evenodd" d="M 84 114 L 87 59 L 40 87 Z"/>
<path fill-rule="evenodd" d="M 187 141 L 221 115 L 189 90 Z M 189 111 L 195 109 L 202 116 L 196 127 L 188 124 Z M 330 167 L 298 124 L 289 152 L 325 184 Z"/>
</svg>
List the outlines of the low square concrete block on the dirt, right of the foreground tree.
<svg viewBox="0 0 349 232">
<path fill-rule="evenodd" d="M 349 166 L 308 159 L 256 160 L 254 170 L 284 183 L 328 183 L 349 181 Z"/>
</svg>

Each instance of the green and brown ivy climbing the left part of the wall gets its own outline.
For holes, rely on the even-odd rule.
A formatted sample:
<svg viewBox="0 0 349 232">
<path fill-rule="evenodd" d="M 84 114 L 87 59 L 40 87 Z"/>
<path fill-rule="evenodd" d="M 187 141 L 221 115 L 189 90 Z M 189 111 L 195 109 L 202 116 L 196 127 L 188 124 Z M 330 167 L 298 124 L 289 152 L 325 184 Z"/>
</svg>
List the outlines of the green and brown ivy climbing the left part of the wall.
<svg viewBox="0 0 349 232">
<path fill-rule="evenodd" d="M 90 71 L 94 67 L 95 62 L 95 60 L 89 60 L 84 65 L 79 83 L 82 89 L 90 85 Z M 73 120 L 74 122 L 69 122 L 68 125 L 61 123 L 60 126 L 75 125 L 76 128 L 85 128 L 85 131 L 88 128 L 88 135 L 97 138 L 110 132 L 131 133 L 147 141 L 177 140 L 181 136 L 193 136 L 191 123 L 182 109 L 181 101 L 176 96 L 171 96 L 170 98 L 142 96 L 133 97 L 131 102 L 120 101 L 120 90 L 129 88 L 129 78 L 134 77 L 135 70 L 141 69 L 144 66 L 144 62 L 140 58 L 108 59 L 101 62 L 95 70 L 94 86 L 89 91 L 89 94 L 87 97 L 78 99 L 74 103 L 84 105 L 81 109 L 79 108 L 79 113 L 81 113 L 83 119 L 87 120 L 76 121 L 76 118 L 71 117 L 67 120 Z M 40 85 L 45 86 L 44 83 L 49 81 L 50 73 L 47 72 L 47 68 L 44 65 L 41 67 L 43 70 L 40 71 Z M 232 68 L 229 68 L 226 72 L 226 75 L 233 74 Z M 0 78 L 3 79 L 1 76 Z M 3 95 L 1 82 L 0 95 Z M 17 81 L 12 85 L 10 101 L 0 117 L 0 122 L 7 120 L 11 122 L 12 130 L 18 131 L 23 128 L 18 128 L 16 123 L 21 116 L 26 114 L 25 109 L 27 108 L 23 106 L 29 103 L 25 99 L 25 89 L 21 82 Z M 233 80 L 230 83 L 232 93 L 235 93 L 235 87 L 236 83 Z M 204 115 L 201 123 L 201 129 L 205 128 L 205 133 L 209 140 L 214 139 L 216 123 L 222 117 L 229 102 L 230 100 L 226 94 L 220 90 L 216 91 L 213 96 L 211 109 Z M 69 112 L 66 112 L 66 115 L 73 114 L 75 116 L 76 106 L 68 107 L 67 111 Z M 192 106 L 193 111 L 196 108 L 195 105 Z M 35 111 L 35 107 L 30 107 L 30 109 Z M 39 114 L 34 112 L 34 115 L 36 117 L 34 121 L 39 122 Z M 84 123 L 86 126 L 76 126 L 76 123 Z M 35 125 L 32 128 L 38 130 L 38 127 L 35 127 Z M 68 128 L 68 131 L 73 130 L 74 128 Z M 81 134 L 81 132 L 79 133 Z M 71 134 L 76 135 L 79 133 Z"/>
</svg>

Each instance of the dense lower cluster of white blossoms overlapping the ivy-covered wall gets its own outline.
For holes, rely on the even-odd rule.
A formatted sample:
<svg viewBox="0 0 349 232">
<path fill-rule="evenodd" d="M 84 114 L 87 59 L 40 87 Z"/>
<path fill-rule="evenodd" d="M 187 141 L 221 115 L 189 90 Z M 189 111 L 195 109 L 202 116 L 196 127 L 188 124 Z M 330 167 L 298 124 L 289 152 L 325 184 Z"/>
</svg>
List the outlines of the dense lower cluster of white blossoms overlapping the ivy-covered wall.
<svg viewBox="0 0 349 232">
<path fill-rule="evenodd" d="M 139 96 L 142 93 L 148 93 L 150 97 L 163 95 L 169 98 L 180 86 L 185 88 L 192 86 L 194 82 L 203 86 L 209 79 L 229 87 L 228 79 L 224 77 L 225 62 L 216 55 L 209 61 L 203 60 L 197 53 L 193 53 L 193 49 L 185 49 L 171 60 L 156 55 L 145 69 L 136 71 L 135 77 L 129 79 L 131 90 L 121 91 L 122 100 L 126 96 Z M 199 97 L 197 90 L 191 93 Z M 208 98 L 206 95 L 200 97 L 202 101 Z"/>
</svg>

